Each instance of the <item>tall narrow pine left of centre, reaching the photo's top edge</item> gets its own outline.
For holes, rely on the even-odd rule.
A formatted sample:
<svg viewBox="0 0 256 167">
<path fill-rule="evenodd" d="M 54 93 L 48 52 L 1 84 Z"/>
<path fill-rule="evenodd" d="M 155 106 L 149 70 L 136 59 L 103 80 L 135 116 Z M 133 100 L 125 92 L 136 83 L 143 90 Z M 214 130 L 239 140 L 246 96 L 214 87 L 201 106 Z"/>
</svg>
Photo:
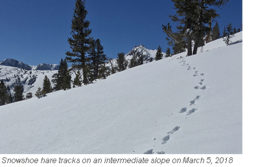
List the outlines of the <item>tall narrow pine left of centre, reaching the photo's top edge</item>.
<svg viewBox="0 0 256 167">
<path fill-rule="evenodd" d="M 89 57 L 87 52 L 89 50 L 91 29 L 89 29 L 90 22 L 86 20 L 87 10 L 85 8 L 84 0 L 76 0 L 75 9 L 72 19 L 72 37 L 67 41 L 70 44 L 72 52 L 66 52 L 66 59 L 69 63 L 74 63 L 76 68 L 82 68 L 84 84 L 88 84 L 87 79 L 87 64 Z"/>
</svg>

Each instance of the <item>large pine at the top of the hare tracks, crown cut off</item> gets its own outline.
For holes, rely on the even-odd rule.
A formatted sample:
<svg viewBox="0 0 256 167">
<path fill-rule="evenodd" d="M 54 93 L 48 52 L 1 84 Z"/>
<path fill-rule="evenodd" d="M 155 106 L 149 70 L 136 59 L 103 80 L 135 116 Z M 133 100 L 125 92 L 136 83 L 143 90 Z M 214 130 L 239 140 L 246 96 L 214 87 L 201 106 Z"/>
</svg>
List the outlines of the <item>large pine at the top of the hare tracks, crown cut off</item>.
<svg viewBox="0 0 256 167">
<path fill-rule="evenodd" d="M 204 45 L 204 36 L 209 34 L 211 20 L 219 15 L 216 10 L 210 6 L 224 6 L 229 0 L 172 0 L 177 15 L 170 15 L 172 21 L 177 22 L 178 35 L 174 35 L 171 26 L 163 26 L 164 32 L 176 43 L 181 43 L 177 37 L 185 39 L 187 56 L 196 54 L 199 46 Z M 192 51 L 192 41 L 194 41 L 194 50 Z M 182 44 L 182 43 L 181 43 Z"/>
</svg>

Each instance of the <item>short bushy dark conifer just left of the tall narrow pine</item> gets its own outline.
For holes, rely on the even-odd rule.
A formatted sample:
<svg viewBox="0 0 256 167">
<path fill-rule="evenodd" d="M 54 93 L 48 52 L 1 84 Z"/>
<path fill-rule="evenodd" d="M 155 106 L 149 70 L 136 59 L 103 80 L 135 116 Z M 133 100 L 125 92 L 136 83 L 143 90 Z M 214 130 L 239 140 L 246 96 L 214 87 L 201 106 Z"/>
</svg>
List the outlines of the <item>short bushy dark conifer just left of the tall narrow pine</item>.
<svg viewBox="0 0 256 167">
<path fill-rule="evenodd" d="M 67 68 L 67 61 L 61 59 L 58 74 L 52 75 L 54 90 L 66 90 L 71 88 L 71 76 Z"/>
</svg>

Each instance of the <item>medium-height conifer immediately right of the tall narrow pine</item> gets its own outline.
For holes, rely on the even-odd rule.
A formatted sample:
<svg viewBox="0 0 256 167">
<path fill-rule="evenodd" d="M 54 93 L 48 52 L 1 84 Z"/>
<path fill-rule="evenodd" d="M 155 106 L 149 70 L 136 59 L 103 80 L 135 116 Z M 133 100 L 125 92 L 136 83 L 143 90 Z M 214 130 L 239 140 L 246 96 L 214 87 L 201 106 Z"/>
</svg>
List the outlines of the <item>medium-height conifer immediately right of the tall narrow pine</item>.
<svg viewBox="0 0 256 167">
<path fill-rule="evenodd" d="M 93 70 L 93 80 L 98 78 L 99 68 L 106 63 L 107 57 L 103 52 L 103 46 L 100 44 L 100 39 L 96 41 L 91 39 L 89 48 L 89 58 L 91 60 L 91 68 Z"/>
</svg>

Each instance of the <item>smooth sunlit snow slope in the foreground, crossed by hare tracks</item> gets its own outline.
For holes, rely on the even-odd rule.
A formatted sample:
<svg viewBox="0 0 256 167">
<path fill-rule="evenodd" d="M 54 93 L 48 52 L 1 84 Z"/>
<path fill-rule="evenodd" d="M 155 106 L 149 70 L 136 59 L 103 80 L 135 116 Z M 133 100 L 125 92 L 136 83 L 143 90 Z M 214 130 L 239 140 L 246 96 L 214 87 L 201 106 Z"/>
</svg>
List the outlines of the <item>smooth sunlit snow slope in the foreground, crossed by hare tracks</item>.
<svg viewBox="0 0 256 167">
<path fill-rule="evenodd" d="M 242 41 L 184 55 L 0 106 L 0 153 L 242 153 Z"/>
</svg>

